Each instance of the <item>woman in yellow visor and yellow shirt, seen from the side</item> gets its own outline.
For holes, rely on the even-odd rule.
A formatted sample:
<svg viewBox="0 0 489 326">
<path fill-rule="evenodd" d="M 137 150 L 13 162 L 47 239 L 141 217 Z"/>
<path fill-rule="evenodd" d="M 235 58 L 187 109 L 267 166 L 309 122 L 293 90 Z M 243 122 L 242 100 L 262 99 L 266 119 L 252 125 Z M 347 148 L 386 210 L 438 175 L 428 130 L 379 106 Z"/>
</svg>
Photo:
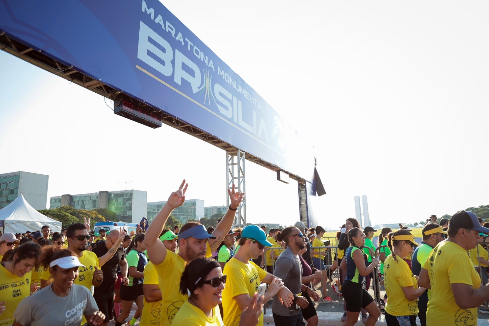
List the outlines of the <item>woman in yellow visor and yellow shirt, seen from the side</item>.
<svg viewBox="0 0 489 326">
<path fill-rule="evenodd" d="M 387 245 L 392 254 L 384 261 L 384 286 L 387 293 L 385 321 L 388 326 L 416 325 L 418 298 L 426 290 L 418 281 L 404 258 L 419 244 L 407 230 L 388 234 Z"/>
</svg>

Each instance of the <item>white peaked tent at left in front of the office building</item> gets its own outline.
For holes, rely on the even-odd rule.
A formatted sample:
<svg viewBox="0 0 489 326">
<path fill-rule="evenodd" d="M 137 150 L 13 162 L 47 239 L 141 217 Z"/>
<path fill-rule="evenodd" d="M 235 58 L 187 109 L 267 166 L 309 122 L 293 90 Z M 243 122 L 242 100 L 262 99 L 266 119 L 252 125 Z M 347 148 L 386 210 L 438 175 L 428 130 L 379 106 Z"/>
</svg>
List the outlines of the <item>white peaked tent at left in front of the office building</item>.
<svg viewBox="0 0 489 326">
<path fill-rule="evenodd" d="M 0 210 L 0 226 L 1 223 L 4 232 L 11 233 L 41 230 L 43 225 L 49 226 L 53 232 L 61 232 L 62 225 L 60 221 L 53 220 L 32 208 L 22 194 Z"/>
</svg>

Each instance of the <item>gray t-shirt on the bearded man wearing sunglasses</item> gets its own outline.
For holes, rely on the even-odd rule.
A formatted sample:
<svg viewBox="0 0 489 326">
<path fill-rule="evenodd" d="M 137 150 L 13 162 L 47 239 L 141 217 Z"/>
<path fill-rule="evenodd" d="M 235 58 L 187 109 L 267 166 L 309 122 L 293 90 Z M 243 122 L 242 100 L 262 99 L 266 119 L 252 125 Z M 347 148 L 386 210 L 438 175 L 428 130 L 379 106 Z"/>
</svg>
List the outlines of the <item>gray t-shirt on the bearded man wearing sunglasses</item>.
<svg viewBox="0 0 489 326">
<path fill-rule="evenodd" d="M 302 264 L 299 256 L 294 255 L 289 247 L 277 258 L 273 275 L 282 279 L 292 294 L 301 293 Z M 285 305 L 280 304 L 277 295 L 275 295 L 273 297 L 272 311 L 280 316 L 295 316 L 301 311 L 301 308 L 295 303 L 292 303 L 292 306 L 287 308 Z"/>
</svg>

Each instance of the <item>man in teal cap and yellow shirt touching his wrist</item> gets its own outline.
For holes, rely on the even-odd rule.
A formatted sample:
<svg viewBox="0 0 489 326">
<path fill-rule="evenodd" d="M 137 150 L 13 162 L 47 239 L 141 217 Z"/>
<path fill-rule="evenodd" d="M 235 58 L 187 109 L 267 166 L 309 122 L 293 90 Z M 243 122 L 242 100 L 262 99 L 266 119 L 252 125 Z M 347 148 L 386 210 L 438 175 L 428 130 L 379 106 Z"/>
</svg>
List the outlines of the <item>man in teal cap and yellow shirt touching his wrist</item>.
<svg viewBox="0 0 489 326">
<path fill-rule="evenodd" d="M 239 244 L 240 250 L 227 262 L 222 272 L 227 275 L 226 286 L 222 290 L 224 325 L 239 325 L 241 312 L 258 290 L 260 281 L 270 284 L 264 302 L 268 302 L 278 293 L 279 301 L 290 307 L 295 294 L 284 287 L 280 279 L 250 261 L 251 258 L 256 259 L 263 254 L 265 246 L 270 246 L 267 234 L 262 229 L 256 225 L 248 225 L 243 229 Z M 263 313 L 257 325 L 263 326 Z"/>
</svg>

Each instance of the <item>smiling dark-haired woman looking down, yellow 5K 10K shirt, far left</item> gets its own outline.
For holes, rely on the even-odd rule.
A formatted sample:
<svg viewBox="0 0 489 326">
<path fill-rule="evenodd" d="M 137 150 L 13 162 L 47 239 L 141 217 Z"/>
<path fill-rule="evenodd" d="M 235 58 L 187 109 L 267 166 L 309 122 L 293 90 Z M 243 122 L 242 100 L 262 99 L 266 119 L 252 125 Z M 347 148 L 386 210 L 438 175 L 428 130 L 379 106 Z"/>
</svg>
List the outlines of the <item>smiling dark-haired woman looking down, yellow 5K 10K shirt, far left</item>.
<svg viewBox="0 0 489 326">
<path fill-rule="evenodd" d="M 0 325 L 14 323 L 14 311 L 27 298 L 30 288 L 31 271 L 38 264 L 41 246 L 34 242 L 24 243 L 14 249 L 10 258 L 0 265 Z"/>
</svg>

